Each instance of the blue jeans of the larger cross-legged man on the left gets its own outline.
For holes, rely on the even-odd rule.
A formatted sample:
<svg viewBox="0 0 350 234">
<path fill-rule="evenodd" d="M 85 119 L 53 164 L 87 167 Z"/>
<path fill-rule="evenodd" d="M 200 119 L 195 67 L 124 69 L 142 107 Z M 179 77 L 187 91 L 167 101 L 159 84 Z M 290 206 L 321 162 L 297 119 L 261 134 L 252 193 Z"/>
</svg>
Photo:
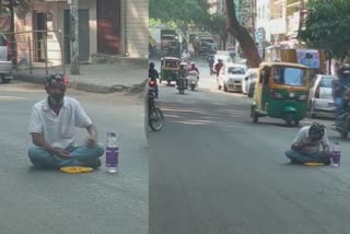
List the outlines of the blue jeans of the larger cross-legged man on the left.
<svg viewBox="0 0 350 234">
<path fill-rule="evenodd" d="M 80 166 L 82 165 L 81 161 L 98 159 L 105 151 L 101 143 L 97 143 L 94 148 L 69 147 L 66 150 L 70 153 L 68 160 L 62 160 L 40 147 L 31 148 L 28 157 L 35 167 L 59 168 L 61 166 Z"/>
</svg>

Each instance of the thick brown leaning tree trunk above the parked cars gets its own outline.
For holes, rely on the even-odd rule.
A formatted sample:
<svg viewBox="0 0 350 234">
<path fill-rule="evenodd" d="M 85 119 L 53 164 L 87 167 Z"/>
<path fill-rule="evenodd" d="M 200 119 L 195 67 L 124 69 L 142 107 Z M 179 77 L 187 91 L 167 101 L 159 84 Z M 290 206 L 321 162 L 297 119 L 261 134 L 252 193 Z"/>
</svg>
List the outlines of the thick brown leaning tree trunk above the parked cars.
<svg viewBox="0 0 350 234">
<path fill-rule="evenodd" d="M 241 49 L 247 59 L 247 63 L 250 68 L 258 68 L 261 62 L 258 49 L 250 37 L 248 31 L 243 27 L 236 16 L 235 5 L 233 0 L 225 0 L 226 8 L 226 25 L 228 32 L 234 36 L 238 42 Z"/>
</svg>

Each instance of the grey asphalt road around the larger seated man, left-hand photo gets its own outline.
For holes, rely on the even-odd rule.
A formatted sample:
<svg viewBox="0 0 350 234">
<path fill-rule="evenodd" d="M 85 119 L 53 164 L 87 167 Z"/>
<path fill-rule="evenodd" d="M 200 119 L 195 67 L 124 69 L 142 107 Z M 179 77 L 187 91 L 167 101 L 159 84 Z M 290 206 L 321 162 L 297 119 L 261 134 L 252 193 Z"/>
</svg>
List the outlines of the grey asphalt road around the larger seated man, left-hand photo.
<svg viewBox="0 0 350 234">
<path fill-rule="evenodd" d="M 1 234 L 138 234 L 149 230 L 149 162 L 143 101 L 119 94 L 69 91 L 98 128 L 120 139 L 120 171 L 90 174 L 34 171 L 28 117 L 46 94 L 42 86 L 0 84 L 0 227 Z M 79 143 L 85 138 L 79 130 Z M 104 157 L 102 157 L 104 161 Z"/>
</svg>

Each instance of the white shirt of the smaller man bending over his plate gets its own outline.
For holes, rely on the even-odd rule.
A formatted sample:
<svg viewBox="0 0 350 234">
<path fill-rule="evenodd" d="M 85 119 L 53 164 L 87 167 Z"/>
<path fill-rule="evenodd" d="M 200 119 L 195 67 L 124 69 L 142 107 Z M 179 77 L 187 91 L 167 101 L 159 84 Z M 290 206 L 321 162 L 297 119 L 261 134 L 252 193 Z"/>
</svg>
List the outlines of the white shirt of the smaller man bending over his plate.
<svg viewBox="0 0 350 234">
<path fill-rule="evenodd" d="M 299 145 L 303 145 L 305 143 L 311 143 L 311 139 L 308 138 L 308 131 L 310 131 L 310 127 L 311 126 L 305 126 L 303 128 L 301 128 L 295 137 L 295 139 L 293 140 L 292 144 L 299 144 Z M 325 134 L 323 137 L 322 140 L 317 141 L 315 147 L 305 147 L 304 149 L 302 149 L 302 153 L 305 154 L 313 154 L 313 153 L 317 153 L 319 151 L 319 145 L 325 147 L 329 147 L 329 140 L 328 140 L 328 136 L 327 136 L 327 129 L 325 129 Z"/>
</svg>

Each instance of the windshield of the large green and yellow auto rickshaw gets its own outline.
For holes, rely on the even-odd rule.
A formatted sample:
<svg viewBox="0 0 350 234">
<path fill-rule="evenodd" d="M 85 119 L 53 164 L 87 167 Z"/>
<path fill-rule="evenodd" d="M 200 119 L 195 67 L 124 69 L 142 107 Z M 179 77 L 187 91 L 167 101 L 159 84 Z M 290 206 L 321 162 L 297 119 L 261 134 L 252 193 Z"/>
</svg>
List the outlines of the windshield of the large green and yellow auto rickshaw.
<svg viewBox="0 0 350 234">
<path fill-rule="evenodd" d="M 275 67 L 273 82 L 282 85 L 303 86 L 306 82 L 304 70 L 300 68 Z"/>
</svg>

